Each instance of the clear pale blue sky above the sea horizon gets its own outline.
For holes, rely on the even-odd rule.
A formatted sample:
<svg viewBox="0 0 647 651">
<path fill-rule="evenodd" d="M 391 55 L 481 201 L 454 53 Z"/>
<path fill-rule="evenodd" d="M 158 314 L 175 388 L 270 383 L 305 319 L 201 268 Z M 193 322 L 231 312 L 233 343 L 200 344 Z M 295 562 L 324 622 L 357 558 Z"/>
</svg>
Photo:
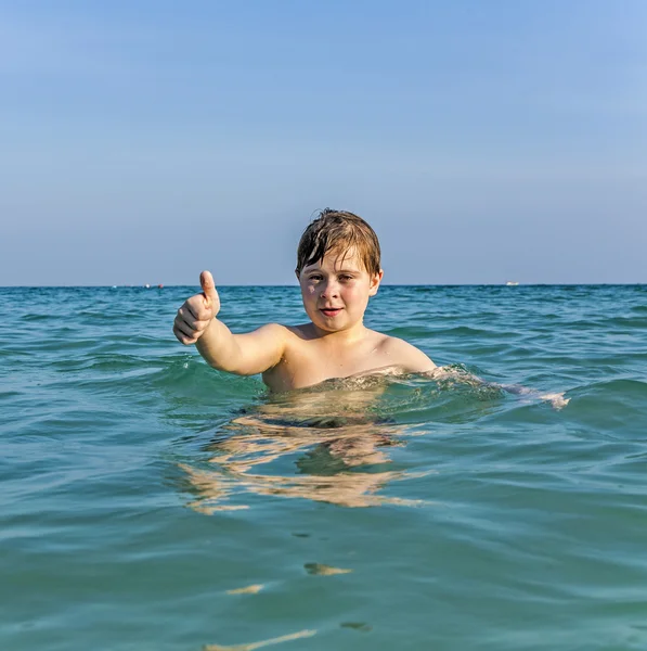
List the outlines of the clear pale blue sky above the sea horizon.
<svg viewBox="0 0 647 651">
<path fill-rule="evenodd" d="M 643 0 L 0 0 L 0 285 L 647 282 Z"/>
</svg>

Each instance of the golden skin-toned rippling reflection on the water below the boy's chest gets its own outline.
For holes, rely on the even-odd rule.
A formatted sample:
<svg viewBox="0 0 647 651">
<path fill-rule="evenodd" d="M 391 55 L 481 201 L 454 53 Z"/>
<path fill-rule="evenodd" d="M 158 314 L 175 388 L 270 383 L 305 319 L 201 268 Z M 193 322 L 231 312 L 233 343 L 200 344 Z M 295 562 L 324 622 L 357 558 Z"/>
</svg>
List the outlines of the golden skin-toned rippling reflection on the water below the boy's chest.
<svg viewBox="0 0 647 651">
<path fill-rule="evenodd" d="M 423 476 L 389 468 L 410 427 L 380 413 L 384 379 L 329 381 L 269 397 L 219 429 L 209 467 L 182 464 L 202 513 L 246 509 L 247 496 L 312 499 L 344 507 L 419 505 L 388 497 L 390 482 Z"/>
</svg>

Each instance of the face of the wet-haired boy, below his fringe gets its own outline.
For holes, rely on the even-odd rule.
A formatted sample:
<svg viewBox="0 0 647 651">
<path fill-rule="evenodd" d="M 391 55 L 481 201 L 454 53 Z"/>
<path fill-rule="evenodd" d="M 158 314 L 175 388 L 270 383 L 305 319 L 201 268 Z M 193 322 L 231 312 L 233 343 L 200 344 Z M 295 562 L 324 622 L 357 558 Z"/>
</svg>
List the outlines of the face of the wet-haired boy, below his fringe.
<svg viewBox="0 0 647 651">
<path fill-rule="evenodd" d="M 306 312 L 325 332 L 361 324 L 368 297 L 377 293 L 381 276 L 381 270 L 370 275 L 354 248 L 328 252 L 298 276 Z"/>
</svg>

